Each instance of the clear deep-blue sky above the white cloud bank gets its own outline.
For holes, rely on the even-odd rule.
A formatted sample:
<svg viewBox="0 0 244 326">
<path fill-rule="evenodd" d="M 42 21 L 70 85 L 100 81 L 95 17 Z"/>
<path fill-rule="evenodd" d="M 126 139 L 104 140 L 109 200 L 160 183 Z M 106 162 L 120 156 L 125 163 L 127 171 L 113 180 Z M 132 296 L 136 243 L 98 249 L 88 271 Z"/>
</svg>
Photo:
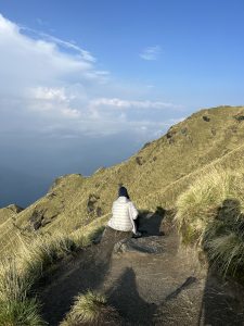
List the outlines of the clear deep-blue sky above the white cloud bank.
<svg viewBox="0 0 244 326">
<path fill-rule="evenodd" d="M 0 10 L 15 23 L 77 42 L 119 83 L 154 86 L 154 98 L 192 109 L 243 102 L 243 1 L 10 0 L 0 1 Z M 158 60 L 140 59 L 156 46 Z"/>
</svg>

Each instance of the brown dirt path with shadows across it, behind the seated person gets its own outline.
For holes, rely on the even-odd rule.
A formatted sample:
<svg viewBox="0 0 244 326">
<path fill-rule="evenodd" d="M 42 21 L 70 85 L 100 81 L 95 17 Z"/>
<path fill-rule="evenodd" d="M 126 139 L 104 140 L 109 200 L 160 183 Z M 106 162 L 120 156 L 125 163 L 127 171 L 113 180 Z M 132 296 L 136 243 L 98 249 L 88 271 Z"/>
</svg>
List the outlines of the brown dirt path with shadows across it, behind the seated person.
<svg viewBox="0 0 244 326">
<path fill-rule="evenodd" d="M 155 234 L 152 222 L 150 233 Z M 73 298 L 88 289 L 105 292 L 124 325 L 244 325 L 241 287 L 219 280 L 200 265 L 193 250 L 180 249 L 175 230 L 168 236 L 157 230 L 145 241 L 152 239 L 162 248 L 159 254 L 112 254 L 116 235 L 63 263 L 41 293 L 49 325 L 59 325 Z"/>
</svg>

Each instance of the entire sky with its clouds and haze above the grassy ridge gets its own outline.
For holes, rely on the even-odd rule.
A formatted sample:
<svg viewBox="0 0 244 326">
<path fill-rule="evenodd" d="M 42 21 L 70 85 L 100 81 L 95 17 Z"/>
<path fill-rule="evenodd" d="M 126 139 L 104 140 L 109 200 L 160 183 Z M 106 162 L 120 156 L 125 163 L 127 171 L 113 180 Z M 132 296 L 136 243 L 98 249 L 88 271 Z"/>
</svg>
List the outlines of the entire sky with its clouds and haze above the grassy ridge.
<svg viewBox="0 0 244 326">
<path fill-rule="evenodd" d="M 0 165 L 47 185 L 244 104 L 241 0 L 0 0 Z"/>
</svg>

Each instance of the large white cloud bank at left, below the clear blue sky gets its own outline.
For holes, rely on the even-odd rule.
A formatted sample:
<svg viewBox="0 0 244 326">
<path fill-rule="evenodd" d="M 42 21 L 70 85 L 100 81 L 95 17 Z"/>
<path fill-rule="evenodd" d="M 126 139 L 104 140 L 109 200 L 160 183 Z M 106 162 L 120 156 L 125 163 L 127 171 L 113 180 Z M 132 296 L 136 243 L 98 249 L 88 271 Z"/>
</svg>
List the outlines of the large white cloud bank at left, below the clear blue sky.
<svg viewBox="0 0 244 326">
<path fill-rule="evenodd" d="M 0 133 L 17 134 L 21 126 L 28 137 L 146 131 L 150 138 L 164 126 L 163 114 L 178 110 L 171 102 L 143 99 L 147 87 L 120 87 L 75 42 L 43 33 L 31 37 L 2 15 L 0 48 Z"/>
</svg>

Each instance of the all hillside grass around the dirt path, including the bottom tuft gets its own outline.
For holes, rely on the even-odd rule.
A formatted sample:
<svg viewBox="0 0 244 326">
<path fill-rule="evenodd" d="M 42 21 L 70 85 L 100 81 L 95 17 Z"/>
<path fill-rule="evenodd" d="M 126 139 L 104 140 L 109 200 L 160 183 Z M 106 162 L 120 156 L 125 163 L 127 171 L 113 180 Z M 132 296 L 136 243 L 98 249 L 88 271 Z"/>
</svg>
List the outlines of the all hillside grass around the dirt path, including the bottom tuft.
<svg viewBox="0 0 244 326">
<path fill-rule="evenodd" d="M 202 110 L 128 161 L 90 177 L 57 178 L 25 210 L 0 209 L 0 324 L 42 325 L 35 299 L 46 273 L 91 244 L 119 184 L 139 210 L 176 212 L 182 242 L 207 253 L 223 275 L 244 280 L 244 106 Z M 10 259 L 11 256 L 11 259 Z M 103 296 L 76 298 L 63 325 L 99 325 L 113 312 Z"/>
</svg>

